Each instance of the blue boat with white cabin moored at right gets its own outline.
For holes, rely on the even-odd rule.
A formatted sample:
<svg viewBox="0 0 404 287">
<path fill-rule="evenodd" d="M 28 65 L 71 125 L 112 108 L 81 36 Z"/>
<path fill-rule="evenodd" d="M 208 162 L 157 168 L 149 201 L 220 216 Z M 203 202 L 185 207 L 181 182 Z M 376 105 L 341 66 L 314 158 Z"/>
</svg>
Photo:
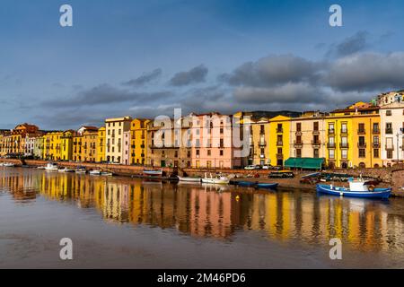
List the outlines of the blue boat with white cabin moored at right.
<svg viewBox="0 0 404 287">
<path fill-rule="evenodd" d="M 391 187 L 374 188 L 369 181 L 362 179 L 348 180 L 349 188 L 334 187 L 333 185 L 317 185 L 317 192 L 331 196 L 363 197 L 363 198 L 382 198 L 387 199 L 391 196 Z"/>
</svg>

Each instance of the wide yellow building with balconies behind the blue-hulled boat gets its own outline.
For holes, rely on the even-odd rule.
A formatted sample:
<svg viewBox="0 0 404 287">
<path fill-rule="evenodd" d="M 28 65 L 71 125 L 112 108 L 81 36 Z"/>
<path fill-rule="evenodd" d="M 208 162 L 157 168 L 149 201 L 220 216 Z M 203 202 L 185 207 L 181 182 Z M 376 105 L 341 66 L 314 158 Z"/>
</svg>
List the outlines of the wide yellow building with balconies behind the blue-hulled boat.
<svg viewBox="0 0 404 287">
<path fill-rule="evenodd" d="M 381 167 L 379 107 L 363 102 L 325 118 L 329 168 Z"/>
</svg>

